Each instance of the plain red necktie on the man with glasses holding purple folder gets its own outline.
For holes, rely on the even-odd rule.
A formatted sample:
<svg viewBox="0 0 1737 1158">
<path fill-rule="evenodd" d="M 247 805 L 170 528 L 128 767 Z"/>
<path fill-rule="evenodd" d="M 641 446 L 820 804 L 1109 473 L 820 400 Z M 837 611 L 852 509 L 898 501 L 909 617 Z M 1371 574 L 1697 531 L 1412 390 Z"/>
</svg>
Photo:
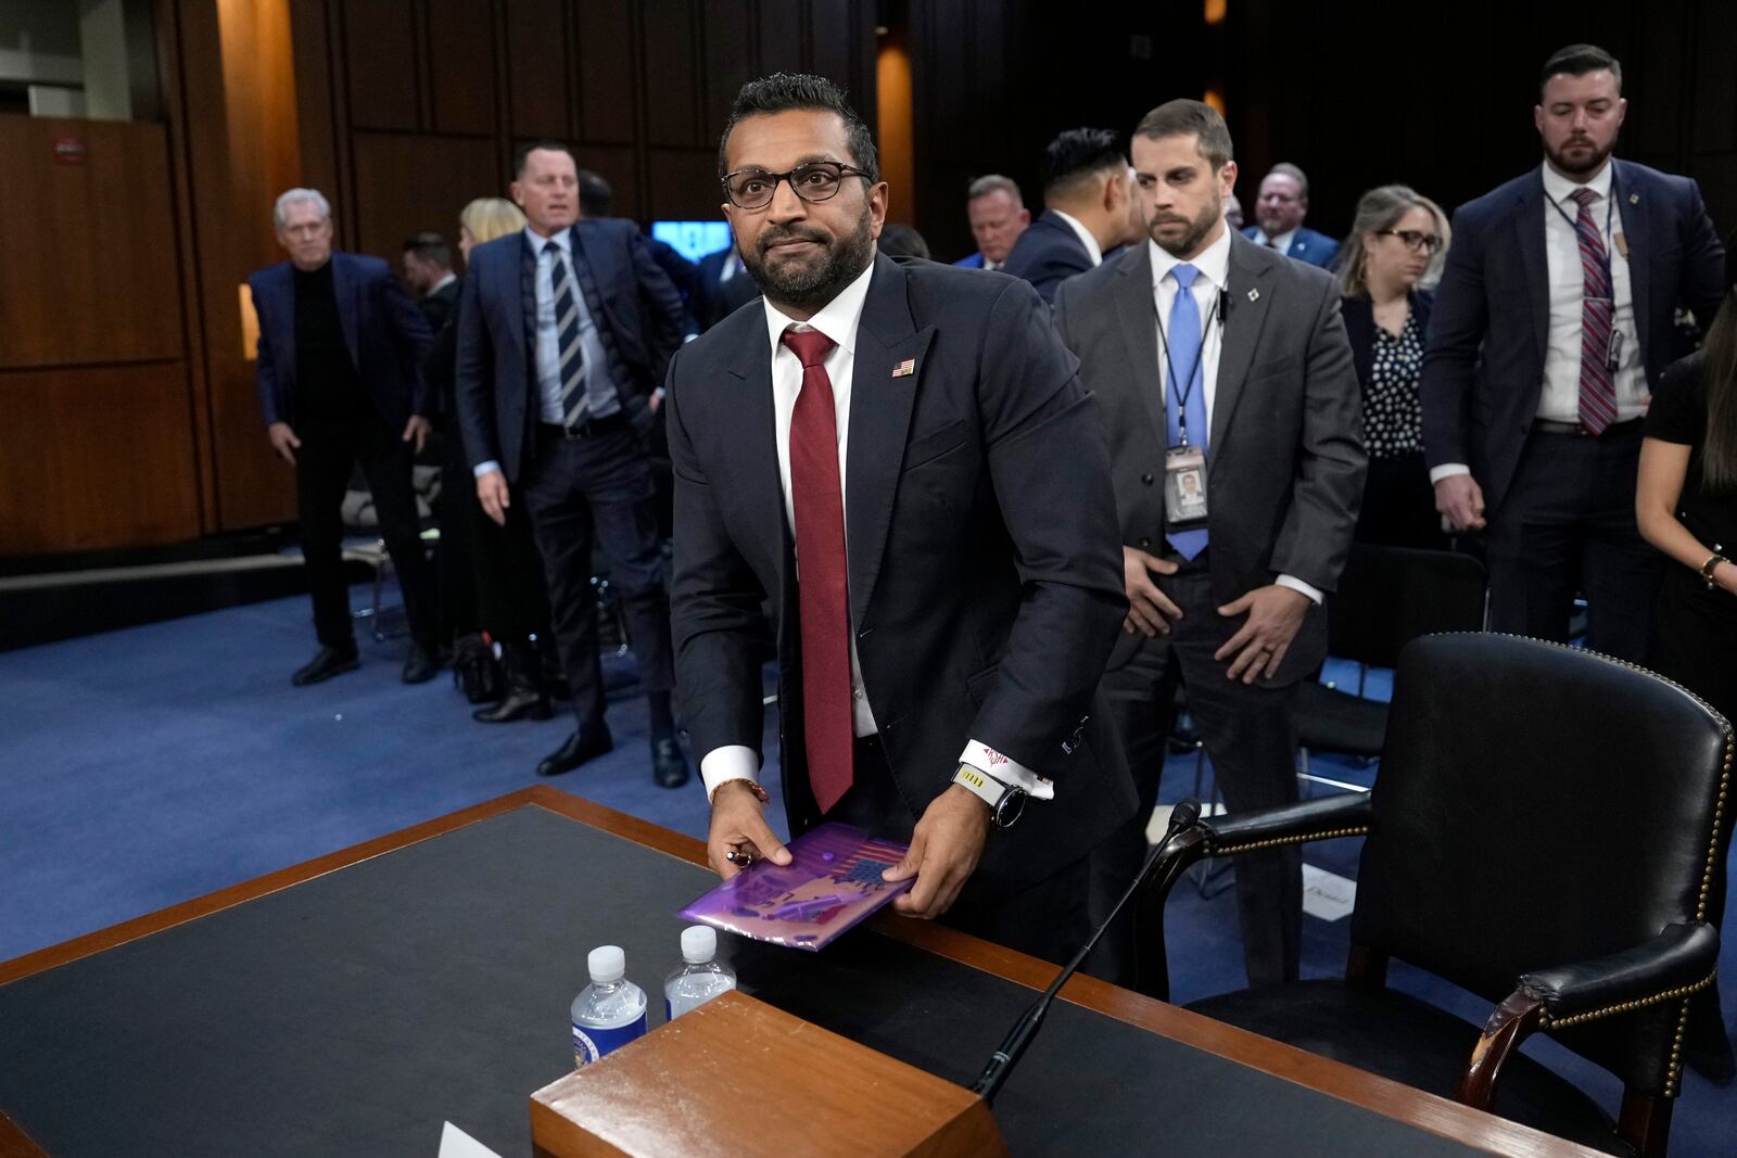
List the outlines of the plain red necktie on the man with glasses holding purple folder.
<svg viewBox="0 0 1737 1158">
<path fill-rule="evenodd" d="M 797 613 L 802 620 L 802 738 L 808 785 L 827 813 L 855 780 L 851 755 L 851 604 L 844 563 L 844 486 L 839 424 L 825 358 L 834 342 L 818 330 L 785 330 L 802 363 L 790 411 L 790 505 L 796 507 Z"/>
</svg>

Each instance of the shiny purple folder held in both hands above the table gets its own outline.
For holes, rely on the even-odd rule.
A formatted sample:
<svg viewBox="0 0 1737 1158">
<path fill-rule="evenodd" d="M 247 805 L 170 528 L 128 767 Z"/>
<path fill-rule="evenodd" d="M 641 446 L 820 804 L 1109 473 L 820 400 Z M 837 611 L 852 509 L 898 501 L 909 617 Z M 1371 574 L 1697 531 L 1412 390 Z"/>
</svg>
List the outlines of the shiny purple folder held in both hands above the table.
<svg viewBox="0 0 1737 1158">
<path fill-rule="evenodd" d="M 787 847 L 789 865 L 754 861 L 677 915 L 813 953 L 912 884 L 881 880 L 907 845 L 862 828 L 820 825 Z"/>
</svg>

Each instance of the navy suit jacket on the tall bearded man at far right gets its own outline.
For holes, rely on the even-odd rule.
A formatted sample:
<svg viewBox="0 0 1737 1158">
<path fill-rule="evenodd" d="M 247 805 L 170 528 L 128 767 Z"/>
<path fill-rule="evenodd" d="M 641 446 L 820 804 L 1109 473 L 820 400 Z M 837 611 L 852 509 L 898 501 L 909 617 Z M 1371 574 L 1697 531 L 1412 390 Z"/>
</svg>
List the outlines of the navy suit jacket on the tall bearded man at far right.
<svg viewBox="0 0 1737 1158">
<path fill-rule="evenodd" d="M 1633 161 L 1612 161 L 1612 196 L 1629 248 L 1629 286 L 1647 382 L 1671 361 L 1678 304 L 1713 318 L 1725 293 L 1720 245 L 1701 189 Z M 1454 214 L 1454 245 L 1435 295 L 1423 363 L 1423 439 L 1431 467 L 1463 462 L 1501 505 L 1544 389 L 1549 266 L 1542 168 Z M 1612 260 L 1617 255 L 1612 253 Z"/>
</svg>

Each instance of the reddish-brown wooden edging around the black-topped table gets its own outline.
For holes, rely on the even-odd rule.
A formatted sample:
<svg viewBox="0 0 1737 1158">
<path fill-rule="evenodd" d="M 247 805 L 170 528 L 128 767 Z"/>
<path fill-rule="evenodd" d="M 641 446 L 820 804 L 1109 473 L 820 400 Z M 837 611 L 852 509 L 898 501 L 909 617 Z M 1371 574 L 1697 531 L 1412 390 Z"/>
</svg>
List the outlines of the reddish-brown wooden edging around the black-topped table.
<svg viewBox="0 0 1737 1158">
<path fill-rule="evenodd" d="M 99 929 L 61 944 L 52 944 L 9 962 L 0 962 L 0 986 L 10 984 L 59 965 L 71 964 L 94 953 L 148 938 L 165 929 L 174 929 L 189 920 L 245 905 L 248 901 L 280 892 L 292 885 L 323 877 L 351 865 L 393 852 L 433 837 L 466 828 L 483 819 L 511 813 L 525 806 L 537 806 L 565 816 L 568 819 L 591 825 L 617 837 L 632 840 L 657 852 L 664 852 L 690 865 L 705 866 L 705 844 L 693 837 L 684 837 L 660 825 L 618 813 L 603 804 L 584 800 L 549 785 L 533 785 L 493 800 L 436 816 L 434 819 L 412 825 L 400 832 L 386 833 L 372 840 L 363 840 L 347 849 L 328 852 L 301 865 L 290 865 L 254 880 L 208 892 L 191 901 L 170 905 L 155 913 L 146 913 L 132 920 L 123 920 L 108 929 Z M 870 922 L 870 929 L 881 936 L 903 941 L 914 948 L 926 950 L 938 957 L 980 969 L 1028 990 L 1044 990 L 1054 977 L 1056 967 L 1049 962 L 1016 953 L 1014 950 L 980 941 L 973 936 L 936 925 L 933 922 L 907 920 L 882 913 Z M 1516 1156 L 1579 1156 L 1596 1155 L 1567 1139 L 1560 1139 L 1532 1127 L 1497 1118 L 1496 1115 L 1473 1109 L 1374 1073 L 1357 1069 L 1344 1063 L 1306 1050 L 1263 1038 L 1247 1030 L 1238 1030 L 1211 1017 L 1190 1012 L 1178 1005 L 1141 997 L 1129 990 L 1117 988 L 1096 977 L 1075 976 L 1061 990 L 1063 1000 L 1091 1009 L 1105 1017 L 1124 1021 L 1159 1036 L 1192 1045 L 1228 1057 L 1242 1066 L 1303 1085 L 1318 1094 L 1327 1094 L 1343 1102 L 1350 1102 L 1384 1118 L 1403 1122 L 1428 1134 L 1435 1134 L 1466 1146 L 1496 1155 Z M 0 1158 L 47 1158 L 45 1153 L 5 1115 L 0 1113 Z"/>
</svg>

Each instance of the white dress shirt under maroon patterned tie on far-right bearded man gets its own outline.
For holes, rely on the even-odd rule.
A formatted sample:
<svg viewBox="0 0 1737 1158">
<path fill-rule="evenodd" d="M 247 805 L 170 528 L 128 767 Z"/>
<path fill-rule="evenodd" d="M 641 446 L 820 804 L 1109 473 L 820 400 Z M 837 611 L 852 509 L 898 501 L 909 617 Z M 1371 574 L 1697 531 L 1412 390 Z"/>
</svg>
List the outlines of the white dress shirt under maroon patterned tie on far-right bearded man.
<svg viewBox="0 0 1737 1158">
<path fill-rule="evenodd" d="M 1647 413 L 1647 368 L 1641 365 L 1640 328 L 1635 321 L 1635 286 L 1629 278 L 1628 257 L 1615 243 L 1622 234 L 1622 214 L 1612 203 L 1614 167 L 1605 167 L 1586 182 L 1598 194 L 1589 210 L 1605 240 L 1610 257 L 1610 293 L 1615 297 L 1612 330 L 1622 335 L 1622 356 L 1612 384 L 1617 391 L 1617 422 L 1628 422 Z M 1586 300 L 1586 273 L 1581 269 L 1581 240 L 1574 219 L 1581 205 L 1574 191 L 1581 186 L 1544 165 L 1544 266 L 1549 285 L 1549 328 L 1544 344 L 1544 384 L 1537 398 L 1537 417 L 1546 422 L 1581 420 L 1581 325 Z M 1551 208 L 1555 207 L 1555 208 Z M 1563 220 L 1562 214 L 1569 219 Z M 1608 212 L 1610 227 L 1605 227 Z M 1471 474 L 1463 462 L 1443 462 L 1430 470 L 1436 483 L 1456 474 Z"/>
</svg>

